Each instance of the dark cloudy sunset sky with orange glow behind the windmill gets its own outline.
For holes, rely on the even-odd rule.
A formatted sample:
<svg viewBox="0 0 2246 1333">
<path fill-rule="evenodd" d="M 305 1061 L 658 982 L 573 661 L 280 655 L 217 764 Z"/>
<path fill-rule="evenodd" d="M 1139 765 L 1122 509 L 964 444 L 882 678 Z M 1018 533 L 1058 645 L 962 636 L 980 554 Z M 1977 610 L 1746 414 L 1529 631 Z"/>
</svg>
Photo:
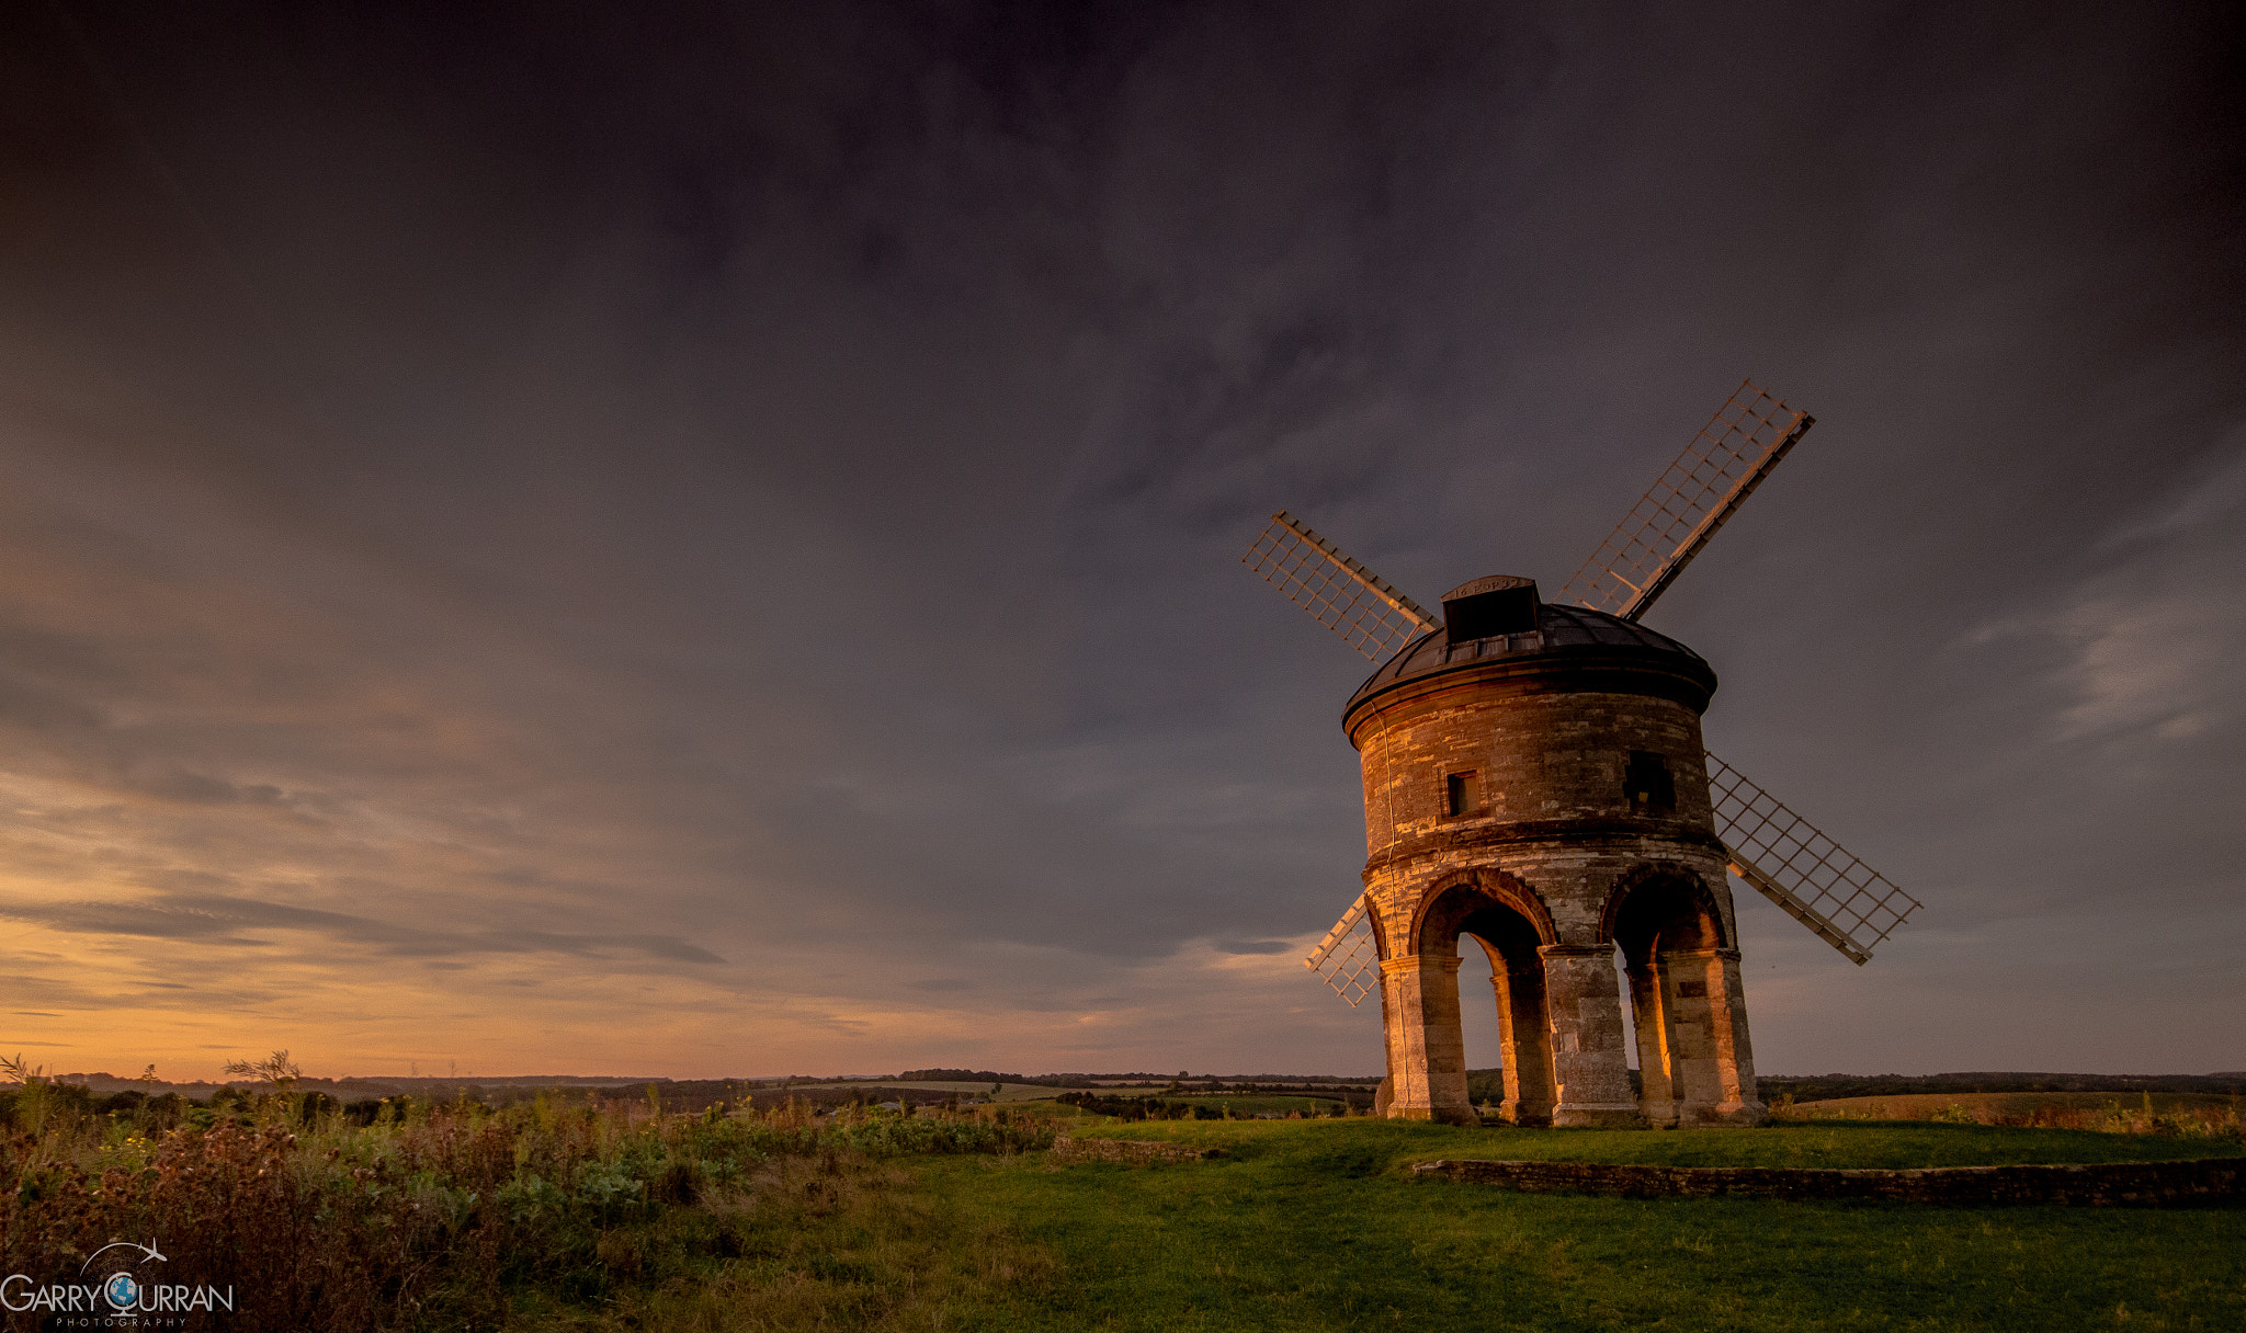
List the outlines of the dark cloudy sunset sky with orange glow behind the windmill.
<svg viewBox="0 0 2246 1333">
<path fill-rule="evenodd" d="M 7 1052 L 1377 1070 L 1300 965 L 1368 664 L 1240 552 L 1556 592 L 1754 377 L 1817 429 L 1649 624 L 1927 904 L 1857 969 L 1734 884 L 1763 1073 L 2246 1068 L 2237 7 L 61 0 L 0 61 Z"/>
</svg>

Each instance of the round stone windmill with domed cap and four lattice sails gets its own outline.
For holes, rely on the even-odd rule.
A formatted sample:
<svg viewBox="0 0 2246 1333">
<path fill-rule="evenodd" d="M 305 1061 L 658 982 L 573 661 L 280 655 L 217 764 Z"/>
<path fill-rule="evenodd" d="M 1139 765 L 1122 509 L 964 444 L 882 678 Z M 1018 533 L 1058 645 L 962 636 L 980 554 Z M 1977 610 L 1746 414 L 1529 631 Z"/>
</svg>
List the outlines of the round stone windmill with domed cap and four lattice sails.
<svg viewBox="0 0 2246 1333">
<path fill-rule="evenodd" d="M 1707 752 L 1716 673 L 1637 624 L 1810 424 L 1743 384 L 1565 601 L 1496 574 L 1444 595 L 1437 619 L 1285 512 L 1244 557 L 1379 664 L 1341 718 L 1366 779 L 1366 891 L 1307 965 L 1352 1005 L 1379 990 L 1388 1115 L 1476 1122 L 1458 994 L 1473 938 L 1507 1120 L 1752 1124 L 1727 871 L 1857 965 L 1918 907 Z"/>
</svg>

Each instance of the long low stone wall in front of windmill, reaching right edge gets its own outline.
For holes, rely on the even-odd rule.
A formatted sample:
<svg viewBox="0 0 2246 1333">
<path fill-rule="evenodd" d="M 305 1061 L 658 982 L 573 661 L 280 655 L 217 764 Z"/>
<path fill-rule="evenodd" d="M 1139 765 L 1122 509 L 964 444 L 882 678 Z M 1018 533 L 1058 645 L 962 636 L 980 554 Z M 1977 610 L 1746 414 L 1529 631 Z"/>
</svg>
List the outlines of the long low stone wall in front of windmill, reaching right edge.
<svg viewBox="0 0 2246 1333">
<path fill-rule="evenodd" d="M 2246 1198 L 2246 1158 L 2060 1167 L 1615 1167 L 1606 1162 L 1419 1162 L 1433 1180 L 1530 1194 L 1626 1198 L 1891 1198 L 1898 1203 L 2158 1205 Z"/>
</svg>

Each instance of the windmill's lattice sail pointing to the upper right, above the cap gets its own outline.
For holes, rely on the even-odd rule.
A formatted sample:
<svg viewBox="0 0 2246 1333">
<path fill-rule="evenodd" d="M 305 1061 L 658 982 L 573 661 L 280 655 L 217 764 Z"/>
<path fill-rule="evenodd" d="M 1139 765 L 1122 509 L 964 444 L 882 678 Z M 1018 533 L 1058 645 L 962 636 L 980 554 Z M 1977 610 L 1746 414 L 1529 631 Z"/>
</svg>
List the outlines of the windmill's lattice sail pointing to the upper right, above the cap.
<svg viewBox="0 0 2246 1333">
<path fill-rule="evenodd" d="M 1622 619 L 1644 615 L 1815 424 L 1743 379 L 1561 595 Z"/>
</svg>

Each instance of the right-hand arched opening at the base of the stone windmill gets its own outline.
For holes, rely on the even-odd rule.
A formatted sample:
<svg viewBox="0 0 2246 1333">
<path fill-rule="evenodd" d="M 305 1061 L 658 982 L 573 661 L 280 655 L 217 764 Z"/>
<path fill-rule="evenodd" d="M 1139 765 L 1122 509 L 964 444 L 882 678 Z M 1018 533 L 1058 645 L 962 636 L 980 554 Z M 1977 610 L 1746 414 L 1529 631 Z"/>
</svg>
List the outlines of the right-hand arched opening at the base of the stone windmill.
<svg viewBox="0 0 2246 1333">
<path fill-rule="evenodd" d="M 1682 866 L 1637 866 L 1606 900 L 1637 1028 L 1637 1106 L 1655 1129 L 1763 1118 L 1738 978 L 1716 895 Z"/>
</svg>

